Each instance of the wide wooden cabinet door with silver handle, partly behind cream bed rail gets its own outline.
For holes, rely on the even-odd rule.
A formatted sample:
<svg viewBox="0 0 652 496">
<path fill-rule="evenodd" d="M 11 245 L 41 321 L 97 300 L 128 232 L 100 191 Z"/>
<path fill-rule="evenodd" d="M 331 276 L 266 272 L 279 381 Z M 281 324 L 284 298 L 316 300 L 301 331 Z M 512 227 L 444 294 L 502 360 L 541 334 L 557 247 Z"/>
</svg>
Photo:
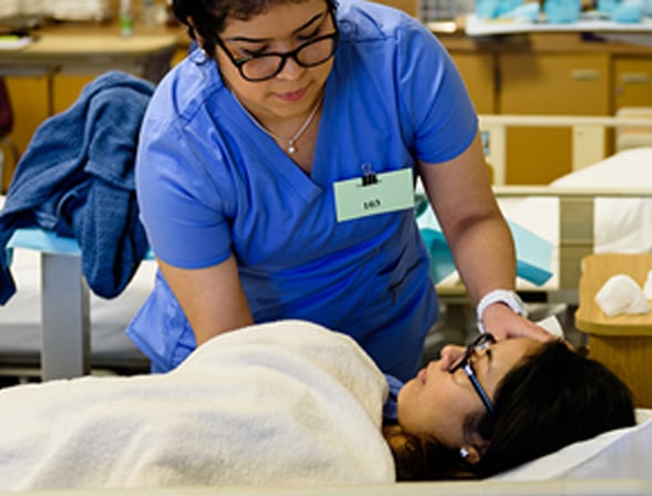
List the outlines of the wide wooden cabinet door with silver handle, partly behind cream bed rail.
<svg viewBox="0 0 652 496">
<path fill-rule="evenodd" d="M 610 114 L 608 54 L 501 54 L 499 74 L 503 114 Z M 508 184 L 548 184 L 572 169 L 572 133 L 510 128 L 506 159 Z"/>
</svg>

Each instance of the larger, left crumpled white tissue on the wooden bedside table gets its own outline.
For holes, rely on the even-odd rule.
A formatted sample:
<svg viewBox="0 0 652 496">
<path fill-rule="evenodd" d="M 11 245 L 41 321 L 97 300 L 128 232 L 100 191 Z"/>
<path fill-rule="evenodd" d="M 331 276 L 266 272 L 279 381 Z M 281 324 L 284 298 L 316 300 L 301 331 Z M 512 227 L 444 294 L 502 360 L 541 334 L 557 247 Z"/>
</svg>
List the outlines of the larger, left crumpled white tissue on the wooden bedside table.
<svg viewBox="0 0 652 496">
<path fill-rule="evenodd" d="M 604 282 L 596 294 L 596 303 L 608 317 L 650 311 L 643 290 L 624 273 L 612 276 Z"/>
</svg>

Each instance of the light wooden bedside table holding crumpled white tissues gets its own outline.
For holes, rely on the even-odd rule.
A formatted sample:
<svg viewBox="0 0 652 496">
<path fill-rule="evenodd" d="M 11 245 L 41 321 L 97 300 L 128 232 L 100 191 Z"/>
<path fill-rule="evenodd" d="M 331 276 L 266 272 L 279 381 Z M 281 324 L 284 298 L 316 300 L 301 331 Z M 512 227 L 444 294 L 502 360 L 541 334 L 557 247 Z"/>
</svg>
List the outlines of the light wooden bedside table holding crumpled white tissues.
<svg viewBox="0 0 652 496">
<path fill-rule="evenodd" d="M 607 317 L 594 297 L 612 276 L 625 273 L 641 287 L 652 254 L 600 254 L 583 258 L 576 327 L 589 334 L 589 356 L 609 366 L 632 390 L 637 406 L 652 407 L 652 312 Z"/>
</svg>

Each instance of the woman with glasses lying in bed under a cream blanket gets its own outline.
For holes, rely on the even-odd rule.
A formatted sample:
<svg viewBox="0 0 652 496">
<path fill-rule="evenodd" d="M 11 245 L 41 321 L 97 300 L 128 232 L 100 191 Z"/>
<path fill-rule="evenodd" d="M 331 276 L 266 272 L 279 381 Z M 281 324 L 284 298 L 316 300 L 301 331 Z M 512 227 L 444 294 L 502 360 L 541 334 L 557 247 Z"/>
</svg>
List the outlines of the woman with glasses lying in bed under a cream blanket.
<svg viewBox="0 0 652 496">
<path fill-rule="evenodd" d="M 166 374 L 0 390 L 0 489 L 485 477 L 634 423 L 627 388 L 563 342 L 486 334 L 387 400 L 351 338 L 252 326 Z"/>
</svg>

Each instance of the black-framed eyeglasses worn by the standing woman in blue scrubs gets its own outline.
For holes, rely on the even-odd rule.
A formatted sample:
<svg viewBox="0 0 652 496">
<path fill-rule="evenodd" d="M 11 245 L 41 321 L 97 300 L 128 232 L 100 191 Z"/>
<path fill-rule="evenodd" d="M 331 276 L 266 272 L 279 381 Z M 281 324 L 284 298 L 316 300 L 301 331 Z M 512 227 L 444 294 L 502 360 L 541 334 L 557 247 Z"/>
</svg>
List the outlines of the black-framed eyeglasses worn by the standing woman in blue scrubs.
<svg viewBox="0 0 652 496">
<path fill-rule="evenodd" d="M 292 59 L 302 68 L 314 68 L 315 65 L 323 64 L 335 54 L 339 39 L 340 33 L 335 27 L 334 32 L 307 41 L 289 52 L 269 52 L 236 59 L 227 49 L 224 41 L 219 37 L 215 37 L 218 46 L 227 54 L 232 64 L 238 68 L 240 75 L 250 82 L 272 79 L 283 70 L 288 59 Z"/>
</svg>

